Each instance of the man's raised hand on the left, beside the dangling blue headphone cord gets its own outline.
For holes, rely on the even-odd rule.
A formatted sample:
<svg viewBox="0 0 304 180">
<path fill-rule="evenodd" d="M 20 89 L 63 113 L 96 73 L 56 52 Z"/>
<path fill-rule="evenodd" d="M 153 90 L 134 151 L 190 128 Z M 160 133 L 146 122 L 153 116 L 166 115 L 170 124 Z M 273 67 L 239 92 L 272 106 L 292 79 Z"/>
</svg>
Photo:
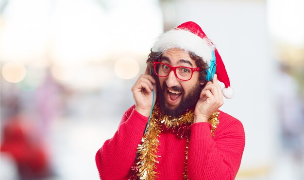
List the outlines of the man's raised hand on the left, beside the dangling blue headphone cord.
<svg viewBox="0 0 304 180">
<path fill-rule="evenodd" d="M 135 100 L 135 110 L 143 116 L 149 117 L 154 90 L 154 102 L 156 100 L 156 81 L 149 75 L 149 69 L 147 67 L 145 74 L 141 74 L 135 85 L 132 87 L 132 92 Z"/>
</svg>

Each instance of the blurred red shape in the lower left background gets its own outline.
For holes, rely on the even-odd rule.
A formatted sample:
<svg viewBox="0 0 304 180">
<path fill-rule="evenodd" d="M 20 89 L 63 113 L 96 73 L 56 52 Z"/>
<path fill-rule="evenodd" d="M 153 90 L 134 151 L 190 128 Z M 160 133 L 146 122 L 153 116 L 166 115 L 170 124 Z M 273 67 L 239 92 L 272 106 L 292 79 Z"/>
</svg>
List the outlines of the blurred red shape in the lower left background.
<svg viewBox="0 0 304 180">
<path fill-rule="evenodd" d="M 41 180 L 52 174 L 47 150 L 32 123 L 17 111 L 1 125 L 0 151 L 15 162 L 20 180 Z"/>
</svg>

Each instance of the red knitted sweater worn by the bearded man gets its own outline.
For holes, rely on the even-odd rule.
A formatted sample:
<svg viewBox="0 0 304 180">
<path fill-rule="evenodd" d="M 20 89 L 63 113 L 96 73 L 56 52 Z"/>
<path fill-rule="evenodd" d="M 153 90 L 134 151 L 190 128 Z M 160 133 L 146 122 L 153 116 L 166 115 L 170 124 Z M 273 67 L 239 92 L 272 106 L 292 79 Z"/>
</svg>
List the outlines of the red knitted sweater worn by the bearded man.
<svg viewBox="0 0 304 180">
<path fill-rule="evenodd" d="M 189 180 L 234 180 L 244 145 L 243 125 L 236 118 L 220 111 L 220 124 L 211 136 L 209 123 L 191 125 L 187 174 Z M 115 135 L 96 154 L 101 180 L 128 180 L 128 173 L 141 144 L 148 118 L 129 108 L 123 115 Z M 156 164 L 158 180 L 183 180 L 186 139 L 162 132 Z"/>
</svg>

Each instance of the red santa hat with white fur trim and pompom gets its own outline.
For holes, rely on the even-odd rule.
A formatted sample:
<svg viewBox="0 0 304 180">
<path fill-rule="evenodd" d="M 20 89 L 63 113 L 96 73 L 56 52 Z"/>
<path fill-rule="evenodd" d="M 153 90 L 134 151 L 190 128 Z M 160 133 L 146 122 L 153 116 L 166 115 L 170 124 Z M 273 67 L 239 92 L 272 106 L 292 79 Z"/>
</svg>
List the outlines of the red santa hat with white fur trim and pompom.
<svg viewBox="0 0 304 180">
<path fill-rule="evenodd" d="M 179 48 L 187 52 L 192 52 L 203 58 L 203 61 L 210 66 L 212 52 L 216 57 L 216 74 L 218 80 L 224 83 L 223 95 L 230 99 L 234 95 L 234 90 L 230 87 L 230 80 L 226 72 L 225 65 L 212 41 L 205 35 L 202 28 L 195 22 L 185 22 L 174 29 L 163 33 L 154 43 L 153 52 L 165 52 L 172 48 Z"/>
</svg>

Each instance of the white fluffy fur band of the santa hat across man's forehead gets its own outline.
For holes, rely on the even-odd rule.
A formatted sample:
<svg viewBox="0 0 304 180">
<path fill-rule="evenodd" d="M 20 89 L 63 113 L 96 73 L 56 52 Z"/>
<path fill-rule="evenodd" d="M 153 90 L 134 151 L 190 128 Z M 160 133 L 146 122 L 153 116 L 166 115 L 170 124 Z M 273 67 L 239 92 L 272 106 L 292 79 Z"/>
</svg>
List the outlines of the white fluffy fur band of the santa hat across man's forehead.
<svg viewBox="0 0 304 180">
<path fill-rule="evenodd" d="M 212 51 L 214 50 L 212 42 L 207 37 L 201 38 L 183 29 L 173 29 L 158 37 L 152 51 L 164 53 L 172 48 L 193 52 L 202 57 L 208 65 L 210 65 Z"/>
</svg>

